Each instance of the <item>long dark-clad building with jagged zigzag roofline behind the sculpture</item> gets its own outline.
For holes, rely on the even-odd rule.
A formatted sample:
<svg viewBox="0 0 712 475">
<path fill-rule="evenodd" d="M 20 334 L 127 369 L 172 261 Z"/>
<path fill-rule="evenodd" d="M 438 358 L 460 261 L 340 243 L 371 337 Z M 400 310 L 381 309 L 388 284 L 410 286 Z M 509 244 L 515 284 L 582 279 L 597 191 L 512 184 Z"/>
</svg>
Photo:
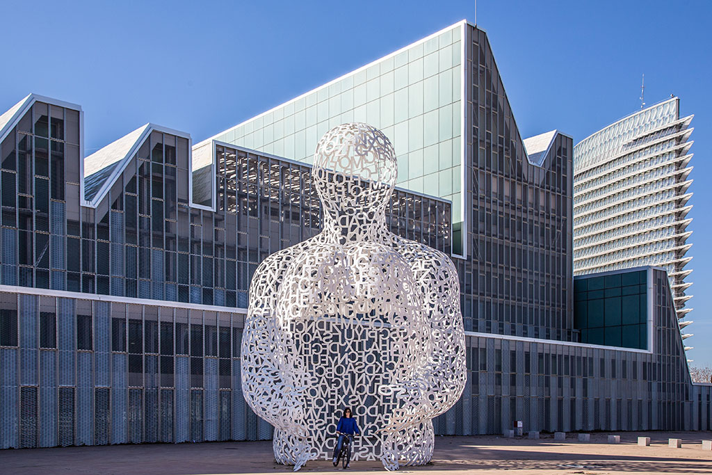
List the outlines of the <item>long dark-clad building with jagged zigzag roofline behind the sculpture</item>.
<svg viewBox="0 0 712 475">
<path fill-rule="evenodd" d="M 459 68 L 460 138 L 437 136 L 436 171 L 408 169 L 387 222 L 452 252 L 459 272 L 468 381 L 436 433 L 496 434 L 515 420 L 526 431 L 710 429 L 712 386 L 690 382 L 666 271 L 575 285 L 572 139 L 521 139 L 483 31 L 461 22 L 389 57 L 421 46 L 423 68 L 438 58 L 423 78 Z M 354 75 L 368 83 L 372 66 Z M 448 88 L 431 86 L 438 100 Z M 410 100 L 408 89 L 407 113 L 424 124 L 431 109 Z M 330 98 L 317 113 L 323 101 L 331 113 Z M 193 147 L 150 123 L 80 160 L 82 131 L 78 105 L 36 95 L 0 115 L 0 447 L 269 439 L 241 394 L 239 342 L 258 263 L 321 228 L 310 166 L 221 135 Z M 398 137 L 408 167 L 411 152 L 434 153 Z M 435 174 L 438 196 L 403 188 Z M 636 322 L 622 316 L 632 296 Z"/>
</svg>

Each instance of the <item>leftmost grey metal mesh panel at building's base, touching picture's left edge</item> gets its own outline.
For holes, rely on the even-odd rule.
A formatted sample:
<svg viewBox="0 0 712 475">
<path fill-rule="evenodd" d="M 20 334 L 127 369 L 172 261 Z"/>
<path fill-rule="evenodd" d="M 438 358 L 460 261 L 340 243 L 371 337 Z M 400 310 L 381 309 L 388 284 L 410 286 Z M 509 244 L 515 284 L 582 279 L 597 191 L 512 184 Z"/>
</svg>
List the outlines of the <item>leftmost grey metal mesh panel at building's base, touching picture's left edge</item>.
<svg viewBox="0 0 712 475">
<path fill-rule="evenodd" d="M 17 351 L 0 348 L 0 449 L 18 447 Z"/>
</svg>

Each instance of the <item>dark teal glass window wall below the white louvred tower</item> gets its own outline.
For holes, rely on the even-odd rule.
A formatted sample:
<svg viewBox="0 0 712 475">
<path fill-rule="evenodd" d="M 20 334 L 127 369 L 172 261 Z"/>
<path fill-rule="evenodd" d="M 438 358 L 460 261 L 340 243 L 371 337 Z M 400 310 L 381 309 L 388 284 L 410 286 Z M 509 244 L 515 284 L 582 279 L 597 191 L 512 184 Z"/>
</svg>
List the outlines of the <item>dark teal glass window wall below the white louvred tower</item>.
<svg viewBox="0 0 712 475">
<path fill-rule="evenodd" d="M 648 271 L 577 277 L 574 324 L 581 342 L 647 349 Z"/>
</svg>

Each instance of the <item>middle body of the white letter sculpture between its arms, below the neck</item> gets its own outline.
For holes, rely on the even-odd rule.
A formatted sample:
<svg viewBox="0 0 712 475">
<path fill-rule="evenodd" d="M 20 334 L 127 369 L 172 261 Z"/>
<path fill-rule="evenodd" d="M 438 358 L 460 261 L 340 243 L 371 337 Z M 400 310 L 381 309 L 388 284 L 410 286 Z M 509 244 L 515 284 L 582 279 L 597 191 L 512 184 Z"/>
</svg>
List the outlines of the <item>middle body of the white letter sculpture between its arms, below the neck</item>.
<svg viewBox="0 0 712 475">
<path fill-rule="evenodd" d="M 365 434 L 355 455 L 381 456 L 378 430 L 399 404 L 387 387 L 412 379 L 409 368 L 429 353 L 411 264 L 382 244 L 335 246 L 315 239 L 281 281 L 288 283 L 278 290 L 287 353 L 310 380 L 305 422 L 313 455 L 330 457 L 338 414 L 352 407 Z"/>
</svg>

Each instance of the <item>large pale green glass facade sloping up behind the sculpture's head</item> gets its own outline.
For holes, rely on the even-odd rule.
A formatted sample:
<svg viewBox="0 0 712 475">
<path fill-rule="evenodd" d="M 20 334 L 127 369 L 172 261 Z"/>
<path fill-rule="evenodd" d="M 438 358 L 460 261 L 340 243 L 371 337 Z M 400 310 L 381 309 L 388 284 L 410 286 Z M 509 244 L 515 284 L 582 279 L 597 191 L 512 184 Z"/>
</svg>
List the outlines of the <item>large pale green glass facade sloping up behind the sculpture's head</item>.
<svg viewBox="0 0 712 475">
<path fill-rule="evenodd" d="M 394 144 L 397 185 L 449 199 L 460 222 L 463 30 L 439 31 L 212 138 L 310 163 L 331 127 L 367 122 Z"/>
</svg>

